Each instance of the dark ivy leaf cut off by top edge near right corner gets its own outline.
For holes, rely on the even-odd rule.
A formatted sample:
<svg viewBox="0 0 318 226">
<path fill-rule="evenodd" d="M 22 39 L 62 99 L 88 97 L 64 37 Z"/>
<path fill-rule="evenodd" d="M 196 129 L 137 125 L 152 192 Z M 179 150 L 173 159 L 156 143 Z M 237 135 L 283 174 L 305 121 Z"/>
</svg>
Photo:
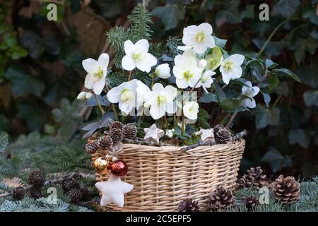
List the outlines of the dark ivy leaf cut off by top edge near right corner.
<svg viewBox="0 0 318 226">
<path fill-rule="evenodd" d="M 295 13 L 297 7 L 299 6 L 299 0 L 279 0 L 274 6 L 271 13 L 272 16 L 281 16 L 288 18 Z"/>
</svg>

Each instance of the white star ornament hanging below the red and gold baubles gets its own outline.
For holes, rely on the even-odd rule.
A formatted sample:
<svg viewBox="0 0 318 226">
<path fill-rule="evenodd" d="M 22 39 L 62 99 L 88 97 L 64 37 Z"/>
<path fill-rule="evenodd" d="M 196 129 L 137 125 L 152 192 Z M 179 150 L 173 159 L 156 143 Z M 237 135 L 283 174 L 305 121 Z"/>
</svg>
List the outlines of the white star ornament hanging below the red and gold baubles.
<svg viewBox="0 0 318 226">
<path fill-rule="evenodd" d="M 124 206 L 124 194 L 134 189 L 132 184 L 122 182 L 120 177 L 110 175 L 107 182 L 97 182 L 95 186 L 102 192 L 100 206 L 106 206 L 109 203 L 114 203 L 119 207 Z"/>
</svg>

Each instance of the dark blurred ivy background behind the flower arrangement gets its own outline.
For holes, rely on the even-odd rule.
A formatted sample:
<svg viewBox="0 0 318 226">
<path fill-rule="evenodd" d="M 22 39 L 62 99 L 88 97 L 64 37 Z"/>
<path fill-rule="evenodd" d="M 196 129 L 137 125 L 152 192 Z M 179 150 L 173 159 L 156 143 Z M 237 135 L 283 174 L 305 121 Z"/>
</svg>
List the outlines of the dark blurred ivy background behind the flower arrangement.
<svg viewBox="0 0 318 226">
<path fill-rule="evenodd" d="M 50 2 L 57 5 L 57 21 L 47 20 Z M 257 108 L 239 114 L 232 129 L 249 133 L 242 171 L 261 165 L 271 178 L 317 174 L 317 0 L 0 0 L 0 131 L 9 133 L 11 150 L 25 151 L 26 138 L 54 137 L 52 145 L 61 137 L 67 141 L 95 117 L 73 102 L 86 76 L 81 61 L 101 52 L 112 56 L 106 32 L 114 25 L 128 27 L 126 16 L 137 2 L 153 16 L 153 42 L 208 22 L 217 37 L 228 40 L 229 52 L 260 53 L 295 72 L 302 83 L 278 84 L 269 107 L 258 95 Z M 269 20 L 261 21 L 264 3 Z M 47 147 L 33 145 L 36 151 Z"/>
</svg>

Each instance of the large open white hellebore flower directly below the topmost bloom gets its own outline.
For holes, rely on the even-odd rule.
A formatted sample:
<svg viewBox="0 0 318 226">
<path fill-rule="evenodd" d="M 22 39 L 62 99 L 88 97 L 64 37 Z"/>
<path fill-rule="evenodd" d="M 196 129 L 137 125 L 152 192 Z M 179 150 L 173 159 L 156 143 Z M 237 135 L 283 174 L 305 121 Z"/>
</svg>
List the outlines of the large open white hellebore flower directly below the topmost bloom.
<svg viewBox="0 0 318 226">
<path fill-rule="evenodd" d="M 201 78 L 201 73 L 204 69 L 199 68 L 195 57 L 192 57 L 188 51 L 182 55 L 175 57 L 175 66 L 173 66 L 173 74 L 176 78 L 177 87 L 184 89 L 187 87 L 193 88 Z M 196 88 L 201 86 L 201 82 L 196 85 Z"/>
</svg>

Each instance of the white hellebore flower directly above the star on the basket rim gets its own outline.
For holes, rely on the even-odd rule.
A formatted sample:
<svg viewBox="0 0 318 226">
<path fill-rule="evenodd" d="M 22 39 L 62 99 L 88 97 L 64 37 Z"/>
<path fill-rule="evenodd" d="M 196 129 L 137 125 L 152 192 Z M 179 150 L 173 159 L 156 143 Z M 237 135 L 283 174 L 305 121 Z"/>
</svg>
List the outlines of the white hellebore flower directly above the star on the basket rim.
<svg viewBox="0 0 318 226">
<path fill-rule="evenodd" d="M 145 103 L 150 105 L 151 117 L 160 119 L 165 115 L 165 112 L 173 114 L 177 112 L 175 105 L 175 97 L 177 97 L 177 88 L 172 85 L 167 85 L 165 88 L 160 83 L 153 85 L 152 91 L 146 93 Z"/>
</svg>

